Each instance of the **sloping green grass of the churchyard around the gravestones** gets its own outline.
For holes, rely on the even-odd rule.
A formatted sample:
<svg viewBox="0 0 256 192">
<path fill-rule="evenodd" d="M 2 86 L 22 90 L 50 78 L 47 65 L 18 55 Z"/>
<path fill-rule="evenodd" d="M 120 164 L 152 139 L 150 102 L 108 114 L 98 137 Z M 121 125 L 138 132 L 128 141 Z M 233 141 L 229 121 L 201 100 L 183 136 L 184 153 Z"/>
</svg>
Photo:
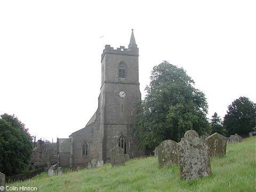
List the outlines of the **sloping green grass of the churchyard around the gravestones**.
<svg viewBox="0 0 256 192">
<path fill-rule="evenodd" d="M 48 177 L 44 172 L 6 186 L 36 187 L 37 191 L 255 191 L 255 139 L 228 145 L 225 157 L 211 158 L 210 177 L 190 182 L 179 179 L 177 165 L 159 168 L 157 157 L 143 157 L 125 166 L 63 169 L 60 176 Z"/>
</svg>

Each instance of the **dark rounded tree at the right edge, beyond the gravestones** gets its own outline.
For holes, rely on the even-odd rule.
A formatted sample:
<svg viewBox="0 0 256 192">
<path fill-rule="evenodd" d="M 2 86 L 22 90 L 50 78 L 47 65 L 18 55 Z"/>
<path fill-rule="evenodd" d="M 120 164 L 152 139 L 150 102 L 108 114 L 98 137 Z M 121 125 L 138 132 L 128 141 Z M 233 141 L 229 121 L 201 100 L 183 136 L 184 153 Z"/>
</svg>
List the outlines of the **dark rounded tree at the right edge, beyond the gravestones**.
<svg viewBox="0 0 256 192">
<path fill-rule="evenodd" d="M 246 97 L 239 97 L 228 106 L 223 125 L 230 134 L 248 134 L 255 131 L 256 107 L 255 103 Z"/>
</svg>

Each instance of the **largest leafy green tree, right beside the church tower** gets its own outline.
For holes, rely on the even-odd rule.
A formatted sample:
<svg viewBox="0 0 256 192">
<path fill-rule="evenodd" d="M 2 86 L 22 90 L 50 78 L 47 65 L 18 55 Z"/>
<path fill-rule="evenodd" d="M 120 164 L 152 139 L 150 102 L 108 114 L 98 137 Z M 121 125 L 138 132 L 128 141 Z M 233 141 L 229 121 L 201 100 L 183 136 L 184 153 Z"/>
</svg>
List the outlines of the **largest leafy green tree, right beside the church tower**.
<svg viewBox="0 0 256 192">
<path fill-rule="evenodd" d="M 209 131 L 203 92 L 183 68 L 163 61 L 153 68 L 145 100 L 137 106 L 133 133 L 141 149 L 154 148 L 166 139 L 180 141 L 188 130 Z"/>
</svg>

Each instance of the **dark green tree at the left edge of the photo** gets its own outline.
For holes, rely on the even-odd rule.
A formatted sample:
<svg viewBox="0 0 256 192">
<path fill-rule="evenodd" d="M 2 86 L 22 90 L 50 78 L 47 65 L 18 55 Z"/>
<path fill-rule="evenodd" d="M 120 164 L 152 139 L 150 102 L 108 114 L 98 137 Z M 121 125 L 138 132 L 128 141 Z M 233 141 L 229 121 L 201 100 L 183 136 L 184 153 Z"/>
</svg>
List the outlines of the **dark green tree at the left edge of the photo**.
<svg viewBox="0 0 256 192">
<path fill-rule="evenodd" d="M 31 136 L 25 124 L 14 115 L 0 118 L 0 172 L 18 174 L 27 165 L 32 154 Z"/>
</svg>

